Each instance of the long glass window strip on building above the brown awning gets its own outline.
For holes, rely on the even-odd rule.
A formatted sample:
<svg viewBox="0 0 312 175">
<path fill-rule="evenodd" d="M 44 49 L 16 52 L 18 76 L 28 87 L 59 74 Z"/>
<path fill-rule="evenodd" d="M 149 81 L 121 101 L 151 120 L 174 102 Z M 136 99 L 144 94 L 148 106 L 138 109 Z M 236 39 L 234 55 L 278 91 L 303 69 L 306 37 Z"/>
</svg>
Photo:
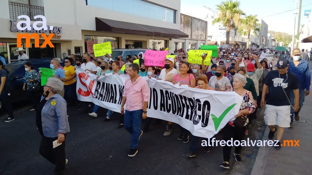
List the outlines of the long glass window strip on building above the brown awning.
<svg viewBox="0 0 312 175">
<path fill-rule="evenodd" d="M 175 23 L 176 11 L 143 0 L 87 0 L 88 6 Z"/>
</svg>

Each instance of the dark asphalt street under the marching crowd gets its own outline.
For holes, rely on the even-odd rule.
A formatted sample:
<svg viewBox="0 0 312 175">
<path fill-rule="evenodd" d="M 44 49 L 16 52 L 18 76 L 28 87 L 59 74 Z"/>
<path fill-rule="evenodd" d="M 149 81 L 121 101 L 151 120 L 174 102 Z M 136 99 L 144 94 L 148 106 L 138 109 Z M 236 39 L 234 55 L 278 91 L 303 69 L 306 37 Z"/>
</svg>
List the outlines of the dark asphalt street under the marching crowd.
<svg viewBox="0 0 312 175">
<path fill-rule="evenodd" d="M 26 102 L 15 107 L 15 121 L 4 122 L 1 115 L 0 174 L 53 174 L 54 165 L 39 154 L 41 135 L 37 131 L 35 112 L 30 112 Z M 89 111 L 92 107 L 88 108 Z M 258 148 L 245 148 L 242 162 L 230 159 L 230 170 L 219 165 L 223 161 L 222 147 L 212 147 L 210 153 L 200 146 L 196 158 L 188 158 L 189 143 L 178 141 L 179 127 L 175 133 L 164 137 L 167 122 L 151 125 L 139 142 L 139 153 L 129 158 L 130 134 L 118 129 L 118 116 L 103 122 L 106 110 L 100 109 L 97 118 L 68 107 L 70 130 L 66 137 L 66 174 L 233 174 L 238 167 L 241 174 L 250 174 Z M 149 114 L 152 115 L 152 114 Z M 251 131 L 250 131 L 251 132 Z M 259 130 L 260 138 L 264 130 Z M 259 135 L 259 134 L 258 134 Z M 222 139 L 222 134 L 216 135 Z M 232 149 L 233 152 L 234 149 Z M 233 154 L 233 153 L 232 153 Z M 232 155 L 231 154 L 231 155 Z M 237 168 L 234 168 L 237 169 Z M 235 170 L 236 172 L 236 170 Z"/>
</svg>

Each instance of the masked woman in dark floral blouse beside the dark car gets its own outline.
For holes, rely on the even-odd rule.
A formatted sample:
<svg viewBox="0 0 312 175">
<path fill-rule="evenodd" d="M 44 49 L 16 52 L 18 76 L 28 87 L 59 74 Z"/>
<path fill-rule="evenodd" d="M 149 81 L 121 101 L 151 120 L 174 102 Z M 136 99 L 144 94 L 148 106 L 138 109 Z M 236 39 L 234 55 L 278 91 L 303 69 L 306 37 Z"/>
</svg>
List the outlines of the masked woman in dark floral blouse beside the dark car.
<svg viewBox="0 0 312 175">
<path fill-rule="evenodd" d="M 40 76 L 38 75 L 38 72 L 32 67 L 31 62 L 26 62 L 24 66 L 26 73 L 23 90 L 27 90 L 27 96 L 32 101 L 32 109 L 29 111 L 35 111 L 39 101 L 39 98 L 36 97 L 38 92 L 37 90 L 31 90 L 29 87 L 37 87 L 39 90 Z"/>
</svg>

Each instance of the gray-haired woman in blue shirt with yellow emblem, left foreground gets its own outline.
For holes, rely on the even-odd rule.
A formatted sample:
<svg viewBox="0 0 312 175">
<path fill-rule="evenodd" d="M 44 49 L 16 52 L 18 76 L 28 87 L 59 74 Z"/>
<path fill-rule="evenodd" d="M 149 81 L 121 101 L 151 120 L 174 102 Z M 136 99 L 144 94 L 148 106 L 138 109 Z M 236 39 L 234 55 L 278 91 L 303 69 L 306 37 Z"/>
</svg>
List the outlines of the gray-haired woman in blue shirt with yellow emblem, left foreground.
<svg viewBox="0 0 312 175">
<path fill-rule="evenodd" d="M 66 101 L 59 94 L 63 82 L 48 78 L 36 111 L 36 124 L 41 134 L 39 153 L 56 165 L 55 174 L 63 174 L 68 160 L 65 158 L 65 136 L 69 132 Z M 56 141 L 58 146 L 54 146 Z"/>
</svg>

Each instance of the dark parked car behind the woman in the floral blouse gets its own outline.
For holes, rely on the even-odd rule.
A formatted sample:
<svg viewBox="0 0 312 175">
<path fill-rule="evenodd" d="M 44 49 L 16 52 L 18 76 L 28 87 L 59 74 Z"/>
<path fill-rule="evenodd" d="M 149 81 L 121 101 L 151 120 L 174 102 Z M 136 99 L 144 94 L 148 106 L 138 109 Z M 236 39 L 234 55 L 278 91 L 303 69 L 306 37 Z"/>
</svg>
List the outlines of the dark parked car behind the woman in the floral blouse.
<svg viewBox="0 0 312 175">
<path fill-rule="evenodd" d="M 19 101 L 27 98 L 27 92 L 23 91 L 23 85 L 25 80 L 25 67 L 24 64 L 29 61 L 32 63 L 32 66 L 37 70 L 38 68 L 50 68 L 51 58 L 44 59 L 25 59 L 17 62 L 12 62 L 7 64 L 4 68 L 8 70 L 8 91 L 10 95 L 10 101 Z M 64 67 L 64 63 L 61 63 Z M 43 87 L 38 93 L 38 96 L 41 95 Z M 0 111 L 2 110 L 2 102 L 0 100 Z"/>
</svg>

